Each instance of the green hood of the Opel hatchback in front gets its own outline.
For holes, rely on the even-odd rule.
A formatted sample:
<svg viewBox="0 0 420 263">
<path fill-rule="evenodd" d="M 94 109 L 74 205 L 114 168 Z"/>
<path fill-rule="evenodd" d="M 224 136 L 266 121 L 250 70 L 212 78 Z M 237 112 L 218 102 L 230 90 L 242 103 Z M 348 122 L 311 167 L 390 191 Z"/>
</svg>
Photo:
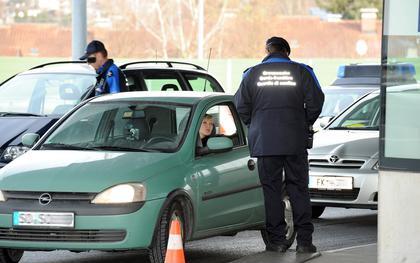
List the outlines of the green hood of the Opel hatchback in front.
<svg viewBox="0 0 420 263">
<path fill-rule="evenodd" d="M 170 153 L 31 150 L 0 170 L 0 189 L 100 192 L 144 182 L 178 163 Z"/>
</svg>

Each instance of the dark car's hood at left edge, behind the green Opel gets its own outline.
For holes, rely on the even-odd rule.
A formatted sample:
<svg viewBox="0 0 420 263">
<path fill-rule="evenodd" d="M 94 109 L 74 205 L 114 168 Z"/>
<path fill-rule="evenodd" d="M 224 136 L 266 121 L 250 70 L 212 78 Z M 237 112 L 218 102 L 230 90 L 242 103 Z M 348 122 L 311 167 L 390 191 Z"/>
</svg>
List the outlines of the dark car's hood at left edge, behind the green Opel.
<svg viewBox="0 0 420 263">
<path fill-rule="evenodd" d="M 20 145 L 25 133 L 43 135 L 57 120 L 52 117 L 0 117 L 0 148 Z"/>
</svg>

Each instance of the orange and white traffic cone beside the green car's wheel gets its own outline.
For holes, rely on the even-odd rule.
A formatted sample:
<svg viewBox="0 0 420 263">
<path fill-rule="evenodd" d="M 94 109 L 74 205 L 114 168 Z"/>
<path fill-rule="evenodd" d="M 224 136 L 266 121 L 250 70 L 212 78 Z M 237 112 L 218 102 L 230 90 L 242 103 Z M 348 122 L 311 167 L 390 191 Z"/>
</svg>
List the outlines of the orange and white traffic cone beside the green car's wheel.
<svg viewBox="0 0 420 263">
<path fill-rule="evenodd" d="M 179 222 L 179 219 L 174 219 L 171 222 L 165 263 L 185 263 L 184 248 L 182 246 L 181 223 Z"/>
</svg>

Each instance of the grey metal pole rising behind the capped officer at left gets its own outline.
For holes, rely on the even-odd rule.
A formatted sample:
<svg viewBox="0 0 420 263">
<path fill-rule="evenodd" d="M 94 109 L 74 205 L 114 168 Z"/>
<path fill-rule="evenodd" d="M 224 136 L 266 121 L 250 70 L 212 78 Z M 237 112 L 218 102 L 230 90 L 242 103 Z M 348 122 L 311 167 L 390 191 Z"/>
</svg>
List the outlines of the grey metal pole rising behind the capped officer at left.
<svg viewBox="0 0 420 263">
<path fill-rule="evenodd" d="M 79 60 L 86 47 L 87 23 L 86 23 L 86 0 L 72 1 L 72 52 L 73 60 Z"/>
</svg>

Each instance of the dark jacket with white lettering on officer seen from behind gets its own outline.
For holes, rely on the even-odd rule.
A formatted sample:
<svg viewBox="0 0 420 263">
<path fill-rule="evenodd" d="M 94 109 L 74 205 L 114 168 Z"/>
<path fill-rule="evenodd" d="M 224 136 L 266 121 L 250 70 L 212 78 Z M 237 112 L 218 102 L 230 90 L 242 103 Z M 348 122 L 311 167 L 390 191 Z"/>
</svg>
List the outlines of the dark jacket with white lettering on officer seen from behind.
<svg viewBox="0 0 420 263">
<path fill-rule="evenodd" d="M 235 105 L 248 126 L 251 156 L 306 152 L 309 125 L 318 118 L 324 93 L 312 68 L 271 54 L 248 69 Z"/>
</svg>

